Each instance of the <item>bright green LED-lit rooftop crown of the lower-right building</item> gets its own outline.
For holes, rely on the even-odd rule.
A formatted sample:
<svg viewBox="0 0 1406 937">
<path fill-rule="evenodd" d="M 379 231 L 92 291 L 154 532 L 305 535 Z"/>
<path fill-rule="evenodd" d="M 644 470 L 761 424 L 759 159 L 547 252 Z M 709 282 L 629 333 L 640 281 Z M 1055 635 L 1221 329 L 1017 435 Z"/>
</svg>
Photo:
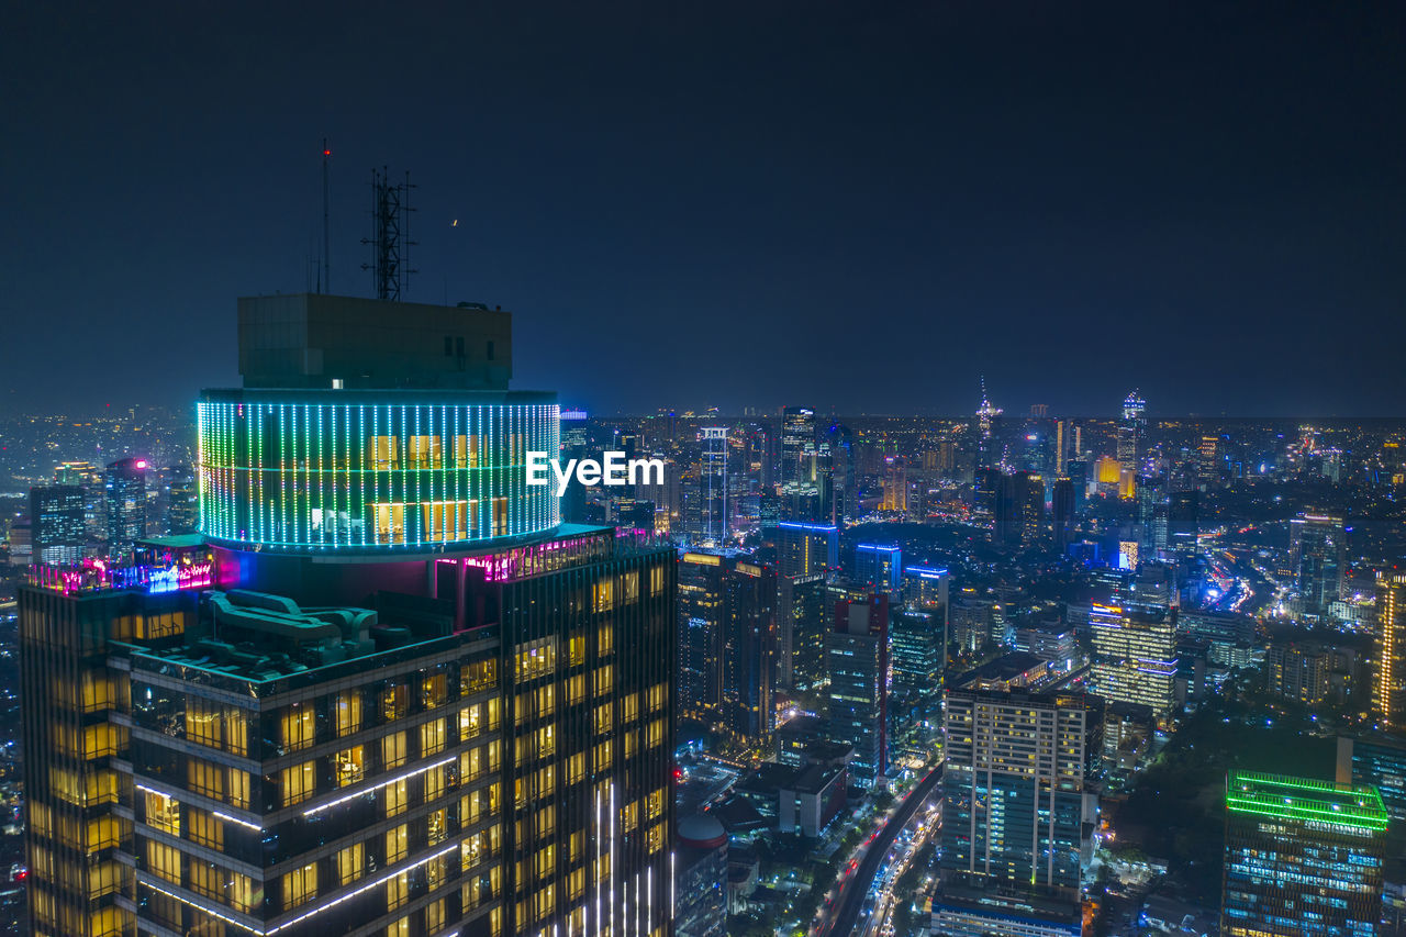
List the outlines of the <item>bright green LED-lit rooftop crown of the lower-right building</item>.
<svg viewBox="0 0 1406 937">
<path fill-rule="evenodd" d="M 1226 809 L 1284 820 L 1312 820 L 1360 830 L 1385 830 L 1389 822 L 1376 788 L 1339 786 L 1326 781 L 1233 771 Z"/>
</svg>

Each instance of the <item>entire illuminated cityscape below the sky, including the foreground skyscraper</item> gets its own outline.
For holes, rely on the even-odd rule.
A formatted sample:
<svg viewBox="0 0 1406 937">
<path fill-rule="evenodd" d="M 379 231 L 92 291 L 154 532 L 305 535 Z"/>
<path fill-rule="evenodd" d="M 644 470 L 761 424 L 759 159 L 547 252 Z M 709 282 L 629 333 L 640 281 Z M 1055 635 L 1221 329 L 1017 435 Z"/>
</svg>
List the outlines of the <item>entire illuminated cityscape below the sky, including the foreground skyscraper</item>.
<svg viewBox="0 0 1406 937">
<path fill-rule="evenodd" d="M 3 426 L 11 929 L 1402 933 L 1406 421 L 595 416 L 481 304 L 239 318 L 195 412 Z"/>
</svg>

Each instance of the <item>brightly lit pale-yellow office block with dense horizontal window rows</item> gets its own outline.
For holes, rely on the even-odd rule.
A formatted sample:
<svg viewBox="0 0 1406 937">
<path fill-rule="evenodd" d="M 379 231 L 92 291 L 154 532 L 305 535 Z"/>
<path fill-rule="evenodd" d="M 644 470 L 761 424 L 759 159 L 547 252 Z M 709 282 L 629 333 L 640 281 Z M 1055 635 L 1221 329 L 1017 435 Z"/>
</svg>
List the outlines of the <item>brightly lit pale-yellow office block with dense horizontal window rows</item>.
<svg viewBox="0 0 1406 937">
<path fill-rule="evenodd" d="M 1097 692 L 1111 701 L 1152 706 L 1159 719 L 1167 719 L 1175 702 L 1175 609 L 1094 604 L 1088 625 Z"/>
</svg>

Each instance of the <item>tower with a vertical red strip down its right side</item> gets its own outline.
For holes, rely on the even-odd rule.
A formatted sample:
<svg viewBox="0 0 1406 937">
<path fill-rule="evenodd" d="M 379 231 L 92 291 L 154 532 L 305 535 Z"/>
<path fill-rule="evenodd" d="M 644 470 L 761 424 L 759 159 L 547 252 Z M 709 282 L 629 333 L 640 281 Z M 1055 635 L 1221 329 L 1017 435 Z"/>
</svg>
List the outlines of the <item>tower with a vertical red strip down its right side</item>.
<svg viewBox="0 0 1406 937">
<path fill-rule="evenodd" d="M 835 604 L 825 637 L 831 734 L 855 748 L 855 781 L 872 785 L 889 770 L 889 597 Z"/>
</svg>

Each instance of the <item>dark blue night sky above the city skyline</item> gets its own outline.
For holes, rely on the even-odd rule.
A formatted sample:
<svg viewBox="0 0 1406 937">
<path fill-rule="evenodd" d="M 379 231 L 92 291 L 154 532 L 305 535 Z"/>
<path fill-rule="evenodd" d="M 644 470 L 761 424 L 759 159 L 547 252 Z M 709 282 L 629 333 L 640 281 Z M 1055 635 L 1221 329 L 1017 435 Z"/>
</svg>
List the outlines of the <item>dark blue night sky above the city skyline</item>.
<svg viewBox="0 0 1406 937">
<path fill-rule="evenodd" d="M 1403 4 L 879 6 L 10 4 L 0 411 L 236 383 L 328 136 L 596 412 L 1406 414 Z"/>
</svg>

